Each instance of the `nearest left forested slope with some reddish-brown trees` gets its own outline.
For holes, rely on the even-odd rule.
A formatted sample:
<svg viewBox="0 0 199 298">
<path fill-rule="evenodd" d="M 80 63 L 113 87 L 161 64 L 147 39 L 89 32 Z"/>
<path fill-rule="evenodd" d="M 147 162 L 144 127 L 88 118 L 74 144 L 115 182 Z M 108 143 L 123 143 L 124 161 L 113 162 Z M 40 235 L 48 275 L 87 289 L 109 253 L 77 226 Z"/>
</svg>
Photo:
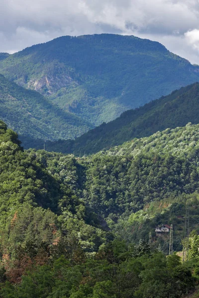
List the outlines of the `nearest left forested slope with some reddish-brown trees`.
<svg viewBox="0 0 199 298">
<path fill-rule="evenodd" d="M 27 270 L 61 255 L 76 262 L 112 239 L 71 184 L 23 151 L 0 121 L 0 283 L 17 284 Z"/>
</svg>

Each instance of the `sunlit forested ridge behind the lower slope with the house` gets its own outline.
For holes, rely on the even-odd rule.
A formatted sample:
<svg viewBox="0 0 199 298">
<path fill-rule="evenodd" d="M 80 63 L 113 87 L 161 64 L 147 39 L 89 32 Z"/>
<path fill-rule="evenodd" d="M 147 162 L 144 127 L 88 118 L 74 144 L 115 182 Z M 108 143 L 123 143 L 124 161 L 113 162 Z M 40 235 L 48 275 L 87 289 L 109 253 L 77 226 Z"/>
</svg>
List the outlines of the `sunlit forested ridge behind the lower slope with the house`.
<svg viewBox="0 0 199 298">
<path fill-rule="evenodd" d="M 77 195 L 111 223 L 154 200 L 199 191 L 198 146 L 199 125 L 188 124 L 82 158 L 33 151 L 51 174 L 73 181 Z M 77 176 L 66 172 L 70 164 Z"/>
</svg>

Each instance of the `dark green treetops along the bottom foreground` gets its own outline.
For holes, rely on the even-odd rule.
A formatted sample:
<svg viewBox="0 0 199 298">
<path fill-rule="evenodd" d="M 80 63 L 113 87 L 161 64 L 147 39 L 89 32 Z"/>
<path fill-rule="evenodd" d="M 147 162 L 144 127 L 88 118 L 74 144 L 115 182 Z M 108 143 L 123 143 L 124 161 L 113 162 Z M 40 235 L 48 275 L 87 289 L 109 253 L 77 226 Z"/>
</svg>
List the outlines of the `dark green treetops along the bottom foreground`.
<svg viewBox="0 0 199 298">
<path fill-rule="evenodd" d="M 118 243 L 114 243 L 116 248 Z M 127 251 L 127 248 L 125 248 Z M 62 256 L 51 266 L 37 266 L 13 287 L 6 283 L 2 298 L 181 298 L 195 287 L 189 269 L 170 263 L 162 253 L 142 257 L 126 256 L 121 262 L 87 259 L 71 266 Z"/>
</svg>

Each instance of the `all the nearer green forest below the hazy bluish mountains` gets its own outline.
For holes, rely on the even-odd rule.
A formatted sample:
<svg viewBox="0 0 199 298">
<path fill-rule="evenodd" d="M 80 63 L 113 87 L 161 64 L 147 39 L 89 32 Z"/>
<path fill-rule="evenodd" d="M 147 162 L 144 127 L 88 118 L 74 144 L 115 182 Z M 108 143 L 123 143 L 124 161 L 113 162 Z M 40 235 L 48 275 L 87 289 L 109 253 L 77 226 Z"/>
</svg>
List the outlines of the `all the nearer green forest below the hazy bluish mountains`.
<svg viewBox="0 0 199 298">
<path fill-rule="evenodd" d="M 191 295 L 199 283 L 199 125 L 80 158 L 24 151 L 1 121 L 0 212 L 2 298 Z M 169 235 L 154 234 L 160 224 L 174 225 L 172 255 Z"/>
</svg>

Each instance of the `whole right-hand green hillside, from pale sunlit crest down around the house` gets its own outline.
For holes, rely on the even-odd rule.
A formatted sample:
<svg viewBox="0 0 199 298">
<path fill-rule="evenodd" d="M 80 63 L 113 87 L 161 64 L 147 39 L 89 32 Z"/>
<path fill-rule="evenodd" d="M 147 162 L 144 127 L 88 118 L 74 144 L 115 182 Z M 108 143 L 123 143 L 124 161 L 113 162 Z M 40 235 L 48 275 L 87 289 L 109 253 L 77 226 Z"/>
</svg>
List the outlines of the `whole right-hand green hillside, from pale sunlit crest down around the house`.
<svg viewBox="0 0 199 298">
<path fill-rule="evenodd" d="M 155 236 L 158 224 L 173 223 L 174 249 L 181 250 L 188 202 L 191 229 L 198 230 L 198 152 L 199 125 L 189 123 L 183 128 L 167 129 L 107 151 L 78 157 L 79 166 L 69 163 L 69 156 L 74 158 L 72 154 L 39 150 L 37 156 L 51 174 L 69 184 L 73 181 L 71 187 L 89 208 L 129 243 L 140 238 L 147 240 L 150 231 Z M 75 166 L 76 177 L 68 172 L 70 164 Z M 167 252 L 169 238 L 156 240 Z"/>
</svg>

